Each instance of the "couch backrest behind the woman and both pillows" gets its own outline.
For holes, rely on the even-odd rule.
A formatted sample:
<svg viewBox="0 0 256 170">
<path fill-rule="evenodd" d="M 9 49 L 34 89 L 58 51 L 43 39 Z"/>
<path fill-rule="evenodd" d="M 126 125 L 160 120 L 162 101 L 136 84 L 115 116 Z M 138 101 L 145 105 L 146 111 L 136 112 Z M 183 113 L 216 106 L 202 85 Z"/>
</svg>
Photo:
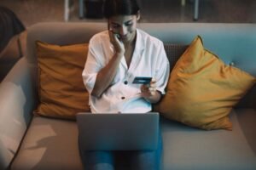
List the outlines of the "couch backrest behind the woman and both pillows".
<svg viewBox="0 0 256 170">
<path fill-rule="evenodd" d="M 256 24 L 141 23 L 138 27 L 164 43 L 189 44 L 200 35 L 204 46 L 226 64 L 235 65 L 256 76 Z M 28 30 L 27 57 L 36 61 L 35 41 L 59 45 L 89 42 L 106 23 L 40 23 Z"/>
</svg>

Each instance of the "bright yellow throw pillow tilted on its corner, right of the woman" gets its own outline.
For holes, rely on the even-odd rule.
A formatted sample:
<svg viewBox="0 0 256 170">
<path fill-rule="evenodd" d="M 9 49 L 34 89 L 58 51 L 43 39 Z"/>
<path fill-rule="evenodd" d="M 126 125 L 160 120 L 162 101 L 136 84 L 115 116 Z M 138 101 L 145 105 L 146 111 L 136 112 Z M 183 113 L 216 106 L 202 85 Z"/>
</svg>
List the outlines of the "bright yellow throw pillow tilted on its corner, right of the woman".
<svg viewBox="0 0 256 170">
<path fill-rule="evenodd" d="M 174 66 L 166 95 L 155 109 L 191 127 L 231 130 L 229 113 L 255 82 L 255 77 L 204 49 L 196 37 Z"/>
</svg>

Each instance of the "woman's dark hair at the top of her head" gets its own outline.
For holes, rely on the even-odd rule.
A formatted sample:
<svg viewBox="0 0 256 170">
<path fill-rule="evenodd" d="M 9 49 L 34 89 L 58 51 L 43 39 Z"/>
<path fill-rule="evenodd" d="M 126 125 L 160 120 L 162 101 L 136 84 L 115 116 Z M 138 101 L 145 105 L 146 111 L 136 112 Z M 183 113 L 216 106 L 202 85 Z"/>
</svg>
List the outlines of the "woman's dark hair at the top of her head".
<svg viewBox="0 0 256 170">
<path fill-rule="evenodd" d="M 103 14 L 107 19 L 115 15 L 137 14 L 139 10 L 136 0 L 105 0 L 103 4 Z"/>
</svg>

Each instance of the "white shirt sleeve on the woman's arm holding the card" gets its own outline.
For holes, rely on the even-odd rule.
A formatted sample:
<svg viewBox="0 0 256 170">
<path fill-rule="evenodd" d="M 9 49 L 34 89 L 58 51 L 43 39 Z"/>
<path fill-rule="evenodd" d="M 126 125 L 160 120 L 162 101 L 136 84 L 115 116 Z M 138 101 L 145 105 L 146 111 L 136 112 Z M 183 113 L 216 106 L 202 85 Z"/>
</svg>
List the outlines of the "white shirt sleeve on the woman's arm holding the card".
<svg viewBox="0 0 256 170">
<path fill-rule="evenodd" d="M 170 64 L 166 56 L 166 50 L 163 42 L 160 42 L 157 53 L 156 71 L 154 78 L 156 79 L 156 89 L 161 94 L 166 94 L 165 88 L 169 80 Z"/>
</svg>

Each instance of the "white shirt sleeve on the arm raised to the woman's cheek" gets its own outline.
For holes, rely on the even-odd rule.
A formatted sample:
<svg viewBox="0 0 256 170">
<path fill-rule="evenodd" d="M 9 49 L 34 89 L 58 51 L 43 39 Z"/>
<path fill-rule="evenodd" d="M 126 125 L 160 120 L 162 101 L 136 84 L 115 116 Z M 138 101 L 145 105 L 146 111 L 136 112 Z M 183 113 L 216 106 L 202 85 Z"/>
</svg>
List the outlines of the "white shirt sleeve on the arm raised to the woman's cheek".
<svg viewBox="0 0 256 170">
<path fill-rule="evenodd" d="M 95 38 L 91 39 L 84 71 L 82 73 L 84 86 L 90 94 L 96 83 L 97 73 L 102 69 L 101 51 L 100 43 L 97 43 Z"/>
</svg>

